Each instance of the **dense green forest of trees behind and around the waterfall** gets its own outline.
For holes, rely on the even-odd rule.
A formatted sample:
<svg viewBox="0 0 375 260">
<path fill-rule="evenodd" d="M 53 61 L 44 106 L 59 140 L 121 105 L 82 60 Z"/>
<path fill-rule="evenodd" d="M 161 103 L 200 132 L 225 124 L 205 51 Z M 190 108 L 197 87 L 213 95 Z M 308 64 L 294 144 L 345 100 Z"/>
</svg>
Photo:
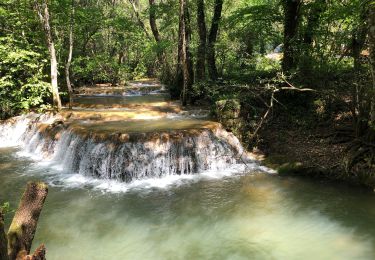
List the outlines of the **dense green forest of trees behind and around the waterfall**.
<svg viewBox="0 0 375 260">
<path fill-rule="evenodd" d="M 59 110 L 76 87 L 152 77 L 183 105 L 238 101 L 228 106 L 242 105 L 240 118 L 224 124 L 249 147 L 262 147 L 267 123 L 325 126 L 321 136 L 344 144 L 339 171 L 372 175 L 372 4 L 4 0 L 1 117 Z"/>
</svg>

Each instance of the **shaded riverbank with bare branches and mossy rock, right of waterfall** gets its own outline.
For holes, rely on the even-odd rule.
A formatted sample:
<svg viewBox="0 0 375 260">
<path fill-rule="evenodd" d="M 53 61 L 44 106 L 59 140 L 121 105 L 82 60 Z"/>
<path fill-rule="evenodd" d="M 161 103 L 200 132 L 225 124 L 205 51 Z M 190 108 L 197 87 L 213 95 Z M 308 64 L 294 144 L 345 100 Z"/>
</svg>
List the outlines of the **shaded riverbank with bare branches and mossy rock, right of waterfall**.
<svg viewBox="0 0 375 260">
<path fill-rule="evenodd" d="M 271 92 L 252 85 L 227 88 L 231 93 L 224 90 L 218 96 L 229 98 L 214 102 L 214 114 L 265 166 L 280 176 L 346 182 L 374 190 L 374 152 L 363 145 L 366 136 L 356 136 L 349 105 L 342 101 L 347 96 L 330 100 L 331 96 L 315 91 Z"/>
</svg>

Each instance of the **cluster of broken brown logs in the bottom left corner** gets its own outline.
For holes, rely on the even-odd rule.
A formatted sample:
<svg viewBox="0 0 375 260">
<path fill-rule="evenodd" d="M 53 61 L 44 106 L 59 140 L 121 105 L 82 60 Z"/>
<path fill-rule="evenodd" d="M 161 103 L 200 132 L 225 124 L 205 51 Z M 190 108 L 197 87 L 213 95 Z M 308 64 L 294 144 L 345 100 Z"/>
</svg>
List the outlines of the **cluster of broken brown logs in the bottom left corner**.
<svg viewBox="0 0 375 260">
<path fill-rule="evenodd" d="M 47 197 L 48 187 L 41 182 L 29 182 L 21 198 L 19 207 L 5 236 L 3 215 L 0 214 L 0 260 L 43 260 L 44 245 L 30 254 L 37 222 Z M 7 250 L 6 241 L 8 240 Z"/>
</svg>

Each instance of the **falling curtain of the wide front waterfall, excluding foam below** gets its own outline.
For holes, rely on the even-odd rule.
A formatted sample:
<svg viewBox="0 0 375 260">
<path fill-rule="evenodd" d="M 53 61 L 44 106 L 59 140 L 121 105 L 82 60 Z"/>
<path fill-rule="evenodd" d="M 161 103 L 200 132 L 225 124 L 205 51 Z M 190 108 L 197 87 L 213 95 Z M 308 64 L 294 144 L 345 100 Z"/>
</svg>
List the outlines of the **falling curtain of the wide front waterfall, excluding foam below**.
<svg viewBox="0 0 375 260">
<path fill-rule="evenodd" d="M 238 139 L 215 128 L 100 135 L 59 116 L 21 116 L 0 125 L 0 146 L 19 145 L 70 173 L 131 182 L 220 171 L 249 160 Z"/>
</svg>

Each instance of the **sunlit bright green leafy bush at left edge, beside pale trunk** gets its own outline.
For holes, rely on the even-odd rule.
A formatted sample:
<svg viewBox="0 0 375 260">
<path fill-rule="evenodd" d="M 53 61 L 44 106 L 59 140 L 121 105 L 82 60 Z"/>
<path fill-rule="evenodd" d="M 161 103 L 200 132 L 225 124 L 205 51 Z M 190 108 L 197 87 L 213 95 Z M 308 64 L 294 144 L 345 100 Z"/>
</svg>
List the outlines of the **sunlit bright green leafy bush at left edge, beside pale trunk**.
<svg viewBox="0 0 375 260">
<path fill-rule="evenodd" d="M 50 95 L 46 65 L 40 50 L 10 37 L 0 38 L 1 118 L 44 104 Z"/>
</svg>

